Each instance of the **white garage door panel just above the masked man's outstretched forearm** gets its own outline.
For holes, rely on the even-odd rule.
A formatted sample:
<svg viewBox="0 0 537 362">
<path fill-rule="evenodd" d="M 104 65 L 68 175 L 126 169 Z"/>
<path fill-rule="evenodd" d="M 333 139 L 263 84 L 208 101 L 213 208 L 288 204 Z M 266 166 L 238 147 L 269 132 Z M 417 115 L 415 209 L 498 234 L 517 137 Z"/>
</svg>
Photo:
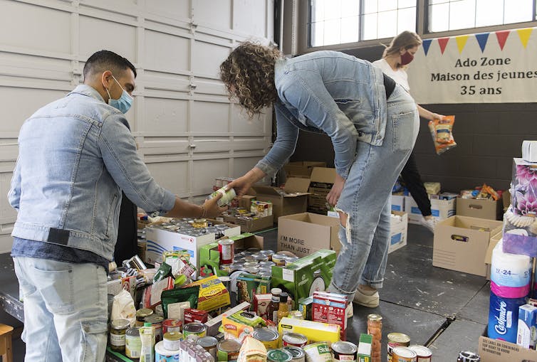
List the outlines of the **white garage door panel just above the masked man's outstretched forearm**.
<svg viewBox="0 0 537 362">
<path fill-rule="evenodd" d="M 179 196 L 188 193 L 188 161 L 148 163 L 147 169 L 160 186 Z"/>
</svg>

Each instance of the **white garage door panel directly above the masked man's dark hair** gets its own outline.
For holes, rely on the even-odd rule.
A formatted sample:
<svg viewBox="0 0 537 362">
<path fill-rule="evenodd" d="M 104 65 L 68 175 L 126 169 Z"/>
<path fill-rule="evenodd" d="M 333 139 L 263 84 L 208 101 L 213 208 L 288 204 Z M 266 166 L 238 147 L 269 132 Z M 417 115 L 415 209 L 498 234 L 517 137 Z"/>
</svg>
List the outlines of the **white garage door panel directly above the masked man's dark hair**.
<svg viewBox="0 0 537 362">
<path fill-rule="evenodd" d="M 137 63 L 136 28 L 100 18 L 80 16 L 80 54 L 87 59 L 98 50 L 111 50 Z"/>
</svg>

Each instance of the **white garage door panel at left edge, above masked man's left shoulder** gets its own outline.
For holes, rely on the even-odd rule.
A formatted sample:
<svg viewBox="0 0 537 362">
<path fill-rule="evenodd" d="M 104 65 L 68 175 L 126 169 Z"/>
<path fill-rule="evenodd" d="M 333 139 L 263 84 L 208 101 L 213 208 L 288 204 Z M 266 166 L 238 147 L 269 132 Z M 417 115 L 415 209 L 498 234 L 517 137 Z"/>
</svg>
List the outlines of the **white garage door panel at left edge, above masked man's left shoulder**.
<svg viewBox="0 0 537 362">
<path fill-rule="evenodd" d="M 19 132 L 24 121 L 36 110 L 66 94 L 58 90 L 0 87 L 4 119 L 4 122 L 0 122 L 0 132 Z"/>
</svg>

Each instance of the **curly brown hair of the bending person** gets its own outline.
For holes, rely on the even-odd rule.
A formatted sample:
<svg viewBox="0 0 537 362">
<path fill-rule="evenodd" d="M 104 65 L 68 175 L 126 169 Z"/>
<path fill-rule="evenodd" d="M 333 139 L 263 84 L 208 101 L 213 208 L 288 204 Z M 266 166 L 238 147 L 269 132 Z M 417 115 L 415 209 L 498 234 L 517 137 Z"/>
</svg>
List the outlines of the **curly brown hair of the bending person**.
<svg viewBox="0 0 537 362">
<path fill-rule="evenodd" d="M 220 65 L 220 78 L 229 98 L 236 97 L 249 117 L 276 101 L 274 64 L 283 58 L 277 48 L 245 41 Z"/>
</svg>

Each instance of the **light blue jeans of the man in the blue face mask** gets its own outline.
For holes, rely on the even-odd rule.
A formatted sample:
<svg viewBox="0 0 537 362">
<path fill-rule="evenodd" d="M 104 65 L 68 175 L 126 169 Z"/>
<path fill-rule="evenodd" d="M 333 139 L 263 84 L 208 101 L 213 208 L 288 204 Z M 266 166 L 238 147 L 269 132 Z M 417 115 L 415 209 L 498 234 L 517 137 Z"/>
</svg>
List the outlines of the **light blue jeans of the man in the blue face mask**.
<svg viewBox="0 0 537 362">
<path fill-rule="evenodd" d="M 106 272 L 94 264 L 14 257 L 24 298 L 25 361 L 104 361 Z"/>
</svg>

